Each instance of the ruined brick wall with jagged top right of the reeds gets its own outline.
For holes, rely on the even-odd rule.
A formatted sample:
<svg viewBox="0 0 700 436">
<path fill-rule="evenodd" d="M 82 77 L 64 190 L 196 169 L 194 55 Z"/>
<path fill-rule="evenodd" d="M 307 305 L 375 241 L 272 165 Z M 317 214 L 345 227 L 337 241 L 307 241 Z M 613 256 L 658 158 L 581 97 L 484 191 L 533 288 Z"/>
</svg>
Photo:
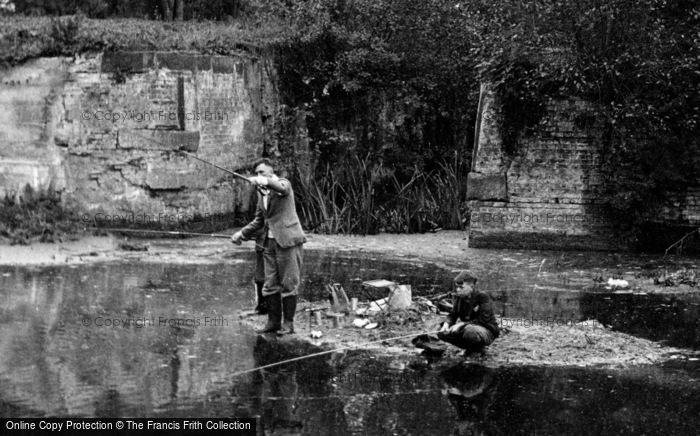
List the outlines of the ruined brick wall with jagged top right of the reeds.
<svg viewBox="0 0 700 436">
<path fill-rule="evenodd" d="M 480 100 L 468 176 L 471 247 L 633 248 L 619 237 L 601 205 L 603 155 L 590 126 L 589 103 L 548 101 L 545 116 L 508 155 L 498 101 L 488 86 L 482 87 Z M 665 248 L 700 226 L 700 188 L 668 198 L 668 205 L 650 208 L 652 225 L 639 241 L 642 247 Z"/>
</svg>

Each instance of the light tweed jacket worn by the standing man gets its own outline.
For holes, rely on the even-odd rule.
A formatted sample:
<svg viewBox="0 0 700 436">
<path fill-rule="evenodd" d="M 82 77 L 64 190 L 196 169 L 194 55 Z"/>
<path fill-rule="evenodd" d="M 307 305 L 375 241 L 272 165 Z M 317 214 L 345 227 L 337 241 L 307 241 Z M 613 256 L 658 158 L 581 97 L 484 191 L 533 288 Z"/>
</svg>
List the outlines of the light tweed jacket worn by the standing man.
<svg viewBox="0 0 700 436">
<path fill-rule="evenodd" d="M 272 230 L 275 240 L 282 248 L 294 247 L 306 242 L 304 230 L 301 228 L 294 203 L 294 191 L 287 179 L 278 179 L 285 188 L 283 192 L 270 189 L 267 208 L 263 202 L 262 194 L 258 193 L 258 205 L 255 209 L 255 218 L 241 229 L 243 238 L 251 239 L 259 230 L 263 235 L 268 229 Z"/>
</svg>

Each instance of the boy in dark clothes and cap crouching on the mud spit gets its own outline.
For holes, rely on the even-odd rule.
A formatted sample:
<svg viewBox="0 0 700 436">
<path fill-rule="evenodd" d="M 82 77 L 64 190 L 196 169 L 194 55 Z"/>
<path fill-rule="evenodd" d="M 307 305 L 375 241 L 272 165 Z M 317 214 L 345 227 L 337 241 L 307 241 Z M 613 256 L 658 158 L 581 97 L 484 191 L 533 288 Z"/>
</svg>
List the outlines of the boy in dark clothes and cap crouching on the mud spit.
<svg viewBox="0 0 700 436">
<path fill-rule="evenodd" d="M 469 352 L 482 351 L 498 337 L 498 323 L 488 294 L 474 289 L 476 277 L 466 271 L 454 279 L 452 310 L 438 337 Z"/>
</svg>

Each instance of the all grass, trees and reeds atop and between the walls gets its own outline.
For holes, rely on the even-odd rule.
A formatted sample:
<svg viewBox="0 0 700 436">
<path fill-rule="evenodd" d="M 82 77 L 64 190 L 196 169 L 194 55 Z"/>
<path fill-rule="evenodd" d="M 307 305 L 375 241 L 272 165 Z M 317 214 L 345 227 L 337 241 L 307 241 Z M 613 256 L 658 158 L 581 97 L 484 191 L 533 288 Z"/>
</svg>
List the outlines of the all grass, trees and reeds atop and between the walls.
<svg viewBox="0 0 700 436">
<path fill-rule="evenodd" d="M 630 238 L 666 205 L 669 190 L 697 184 L 696 2 L 241 4 L 243 12 L 226 24 L 4 17 L 0 61 L 120 48 L 259 50 L 275 62 L 282 103 L 269 141 L 297 178 L 307 226 L 318 231 L 463 226 L 463 169 L 470 167 L 482 81 L 501 100 L 512 154 L 548 99 L 594 103 L 580 124 L 605 153 L 601 201 Z M 123 16 L 108 16 L 115 15 Z M 284 145 L 300 124 L 313 149 L 310 181 Z"/>
</svg>

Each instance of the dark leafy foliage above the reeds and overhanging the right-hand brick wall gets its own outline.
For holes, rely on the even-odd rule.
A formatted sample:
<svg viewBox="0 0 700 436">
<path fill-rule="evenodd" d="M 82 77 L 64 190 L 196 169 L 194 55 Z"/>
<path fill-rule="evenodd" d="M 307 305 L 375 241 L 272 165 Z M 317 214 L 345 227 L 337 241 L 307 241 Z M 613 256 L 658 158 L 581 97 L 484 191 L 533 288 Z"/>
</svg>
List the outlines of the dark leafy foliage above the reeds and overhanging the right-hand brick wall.
<svg viewBox="0 0 700 436">
<path fill-rule="evenodd" d="M 392 209 L 397 186 L 435 177 L 455 151 L 468 162 L 482 80 L 502 103 L 511 154 L 548 99 L 593 103 L 579 121 L 604 151 L 599 196 L 631 238 L 669 191 L 698 183 L 694 2 L 307 0 L 271 13 L 289 29 L 277 51 L 282 94 L 309 113 L 320 165 L 371 154 L 397 180 L 376 187 L 387 216 L 429 198 L 414 188 Z"/>
</svg>

